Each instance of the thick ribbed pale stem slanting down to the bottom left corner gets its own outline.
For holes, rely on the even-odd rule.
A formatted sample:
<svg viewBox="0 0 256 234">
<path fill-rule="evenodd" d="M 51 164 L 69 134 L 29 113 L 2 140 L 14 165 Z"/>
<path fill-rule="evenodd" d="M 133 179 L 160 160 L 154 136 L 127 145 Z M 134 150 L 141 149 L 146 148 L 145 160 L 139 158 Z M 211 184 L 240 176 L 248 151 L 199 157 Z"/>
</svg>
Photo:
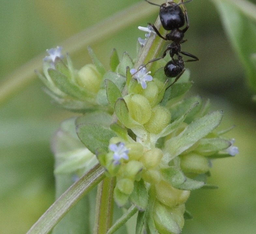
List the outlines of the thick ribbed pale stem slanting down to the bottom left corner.
<svg viewBox="0 0 256 234">
<path fill-rule="evenodd" d="M 63 216 L 92 188 L 104 178 L 104 168 L 97 164 L 66 192 L 29 229 L 27 234 L 46 234 L 63 218 Z"/>
</svg>

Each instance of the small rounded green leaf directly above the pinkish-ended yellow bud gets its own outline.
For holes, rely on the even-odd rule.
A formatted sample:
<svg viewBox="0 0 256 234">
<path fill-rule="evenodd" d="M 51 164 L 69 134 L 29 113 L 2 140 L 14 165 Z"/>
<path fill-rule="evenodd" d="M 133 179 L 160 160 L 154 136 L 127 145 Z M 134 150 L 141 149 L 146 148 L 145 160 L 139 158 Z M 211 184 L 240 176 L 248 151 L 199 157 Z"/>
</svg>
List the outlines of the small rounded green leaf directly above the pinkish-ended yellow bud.
<svg viewBox="0 0 256 234">
<path fill-rule="evenodd" d="M 161 174 L 163 175 L 164 179 L 173 187 L 181 185 L 186 181 L 186 176 L 176 167 L 167 167 L 161 169 Z"/>
</svg>

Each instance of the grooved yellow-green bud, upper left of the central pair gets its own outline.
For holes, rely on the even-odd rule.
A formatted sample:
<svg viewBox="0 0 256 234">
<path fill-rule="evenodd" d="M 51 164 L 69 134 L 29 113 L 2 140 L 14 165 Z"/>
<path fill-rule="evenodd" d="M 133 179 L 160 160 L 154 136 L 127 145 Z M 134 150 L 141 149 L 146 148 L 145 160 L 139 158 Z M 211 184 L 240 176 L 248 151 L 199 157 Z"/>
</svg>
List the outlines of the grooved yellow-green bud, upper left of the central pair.
<svg viewBox="0 0 256 234">
<path fill-rule="evenodd" d="M 125 96 L 124 99 L 132 119 L 141 124 L 148 122 L 151 106 L 147 98 L 140 94 L 133 94 Z"/>
</svg>

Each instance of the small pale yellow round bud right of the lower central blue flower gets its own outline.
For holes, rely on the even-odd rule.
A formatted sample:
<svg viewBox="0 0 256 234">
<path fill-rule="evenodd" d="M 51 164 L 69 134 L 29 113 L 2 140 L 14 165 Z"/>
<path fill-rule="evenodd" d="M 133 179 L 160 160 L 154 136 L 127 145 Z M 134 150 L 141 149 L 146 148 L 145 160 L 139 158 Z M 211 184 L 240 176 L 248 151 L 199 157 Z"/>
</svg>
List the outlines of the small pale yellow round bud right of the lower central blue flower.
<svg viewBox="0 0 256 234">
<path fill-rule="evenodd" d="M 159 162 L 163 157 L 163 152 L 161 149 L 154 148 L 144 152 L 140 161 L 146 168 L 154 168 L 158 166 Z"/>
</svg>

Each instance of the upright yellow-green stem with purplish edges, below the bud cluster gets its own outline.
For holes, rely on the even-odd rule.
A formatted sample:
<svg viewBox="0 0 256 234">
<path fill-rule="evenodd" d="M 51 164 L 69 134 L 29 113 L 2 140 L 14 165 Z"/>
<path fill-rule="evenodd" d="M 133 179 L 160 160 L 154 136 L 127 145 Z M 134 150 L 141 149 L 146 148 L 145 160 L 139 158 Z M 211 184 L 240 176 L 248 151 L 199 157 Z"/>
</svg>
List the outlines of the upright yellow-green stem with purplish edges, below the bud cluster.
<svg viewBox="0 0 256 234">
<path fill-rule="evenodd" d="M 115 178 L 105 178 L 98 185 L 96 210 L 95 210 L 95 234 L 105 234 L 112 225 L 113 219 L 113 190 Z"/>
</svg>

